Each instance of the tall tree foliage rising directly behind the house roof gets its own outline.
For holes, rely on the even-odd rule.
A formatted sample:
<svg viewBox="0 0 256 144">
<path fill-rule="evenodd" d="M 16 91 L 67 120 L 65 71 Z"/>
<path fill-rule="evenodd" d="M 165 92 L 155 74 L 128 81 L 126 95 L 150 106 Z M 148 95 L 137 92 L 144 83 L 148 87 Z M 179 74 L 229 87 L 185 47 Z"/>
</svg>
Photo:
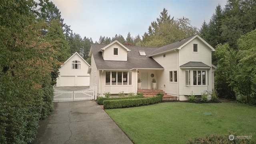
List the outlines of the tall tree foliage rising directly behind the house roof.
<svg viewBox="0 0 256 144">
<path fill-rule="evenodd" d="M 142 36 L 143 46 L 164 46 L 172 42 L 181 40 L 197 33 L 197 28 L 191 26 L 188 18 L 170 18 L 167 10 L 160 13 L 160 17 L 156 21 L 151 22 L 148 32 Z"/>
</svg>

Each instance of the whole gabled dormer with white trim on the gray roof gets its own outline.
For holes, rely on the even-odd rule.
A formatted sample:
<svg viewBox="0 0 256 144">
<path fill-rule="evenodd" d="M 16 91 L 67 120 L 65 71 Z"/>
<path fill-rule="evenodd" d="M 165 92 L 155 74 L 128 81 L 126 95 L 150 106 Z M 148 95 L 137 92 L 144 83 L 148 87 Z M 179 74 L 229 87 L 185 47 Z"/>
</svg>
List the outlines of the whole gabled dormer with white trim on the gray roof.
<svg viewBox="0 0 256 144">
<path fill-rule="evenodd" d="M 115 40 L 104 48 L 101 48 L 103 60 L 127 61 L 127 53 L 130 52 L 126 46 Z"/>
</svg>

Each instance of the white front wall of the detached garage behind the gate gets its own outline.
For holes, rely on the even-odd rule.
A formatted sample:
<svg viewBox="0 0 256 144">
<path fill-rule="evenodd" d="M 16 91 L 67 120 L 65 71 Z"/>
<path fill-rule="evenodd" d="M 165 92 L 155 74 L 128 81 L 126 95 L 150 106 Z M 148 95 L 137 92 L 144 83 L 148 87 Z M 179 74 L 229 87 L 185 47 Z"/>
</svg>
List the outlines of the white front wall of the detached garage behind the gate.
<svg viewBox="0 0 256 144">
<path fill-rule="evenodd" d="M 72 69 L 72 61 L 74 60 L 81 62 L 80 69 Z M 60 74 L 56 86 L 89 86 L 90 74 L 87 74 L 88 67 L 89 65 L 78 54 L 74 54 L 59 69 Z M 78 77 L 83 80 L 78 80 Z"/>
</svg>

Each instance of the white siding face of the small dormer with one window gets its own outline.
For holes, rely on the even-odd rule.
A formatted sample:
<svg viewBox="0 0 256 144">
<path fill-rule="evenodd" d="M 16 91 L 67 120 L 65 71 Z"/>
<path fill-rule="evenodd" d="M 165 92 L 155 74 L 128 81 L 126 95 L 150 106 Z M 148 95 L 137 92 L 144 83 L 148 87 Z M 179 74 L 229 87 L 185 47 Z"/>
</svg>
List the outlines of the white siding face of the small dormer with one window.
<svg viewBox="0 0 256 144">
<path fill-rule="evenodd" d="M 118 48 L 118 55 L 114 55 L 114 48 Z M 104 60 L 127 61 L 127 50 L 120 44 L 114 43 L 103 52 Z"/>
</svg>

